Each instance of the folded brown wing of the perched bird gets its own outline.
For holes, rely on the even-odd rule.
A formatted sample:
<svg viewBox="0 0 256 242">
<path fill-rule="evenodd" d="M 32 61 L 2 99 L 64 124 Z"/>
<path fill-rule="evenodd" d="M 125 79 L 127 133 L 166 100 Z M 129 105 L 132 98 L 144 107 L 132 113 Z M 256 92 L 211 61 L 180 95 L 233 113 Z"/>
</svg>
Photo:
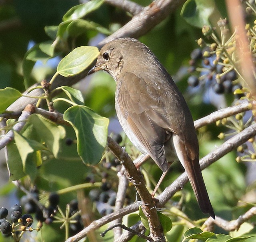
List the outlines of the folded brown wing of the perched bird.
<svg viewBox="0 0 256 242">
<path fill-rule="evenodd" d="M 116 105 L 152 159 L 166 171 L 164 143 L 173 131 L 166 119 L 161 97 L 153 94 L 153 88 L 143 78 L 126 72 L 117 81 Z"/>
</svg>

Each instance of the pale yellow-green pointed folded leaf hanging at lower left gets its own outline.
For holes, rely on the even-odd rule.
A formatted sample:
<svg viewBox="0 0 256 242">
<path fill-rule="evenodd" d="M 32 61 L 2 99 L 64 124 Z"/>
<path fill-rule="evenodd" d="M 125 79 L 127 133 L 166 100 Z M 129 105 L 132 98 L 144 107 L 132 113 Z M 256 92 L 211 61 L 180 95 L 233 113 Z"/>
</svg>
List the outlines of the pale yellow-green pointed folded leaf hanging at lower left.
<svg viewBox="0 0 256 242">
<path fill-rule="evenodd" d="M 22 160 L 23 171 L 26 170 L 26 160 L 29 154 L 38 150 L 47 150 L 41 143 L 35 140 L 26 139 L 16 131 L 14 131 L 14 141 Z"/>
</svg>

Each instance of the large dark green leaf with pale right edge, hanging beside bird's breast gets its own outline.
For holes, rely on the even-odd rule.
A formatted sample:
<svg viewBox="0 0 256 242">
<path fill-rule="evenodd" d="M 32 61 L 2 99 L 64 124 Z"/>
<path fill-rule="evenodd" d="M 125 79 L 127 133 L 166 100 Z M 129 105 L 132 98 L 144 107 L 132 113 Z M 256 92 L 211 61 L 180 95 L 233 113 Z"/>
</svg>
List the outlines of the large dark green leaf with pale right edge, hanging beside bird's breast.
<svg viewBox="0 0 256 242">
<path fill-rule="evenodd" d="M 109 120 L 81 105 L 68 108 L 63 118 L 74 128 L 82 161 L 89 165 L 98 164 L 107 145 Z"/>
</svg>

